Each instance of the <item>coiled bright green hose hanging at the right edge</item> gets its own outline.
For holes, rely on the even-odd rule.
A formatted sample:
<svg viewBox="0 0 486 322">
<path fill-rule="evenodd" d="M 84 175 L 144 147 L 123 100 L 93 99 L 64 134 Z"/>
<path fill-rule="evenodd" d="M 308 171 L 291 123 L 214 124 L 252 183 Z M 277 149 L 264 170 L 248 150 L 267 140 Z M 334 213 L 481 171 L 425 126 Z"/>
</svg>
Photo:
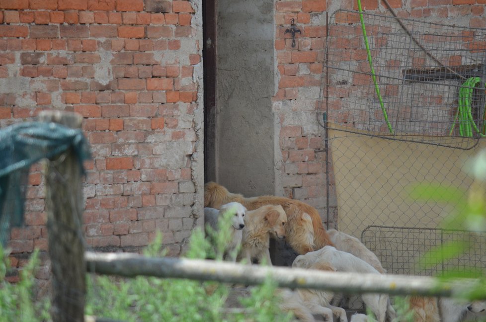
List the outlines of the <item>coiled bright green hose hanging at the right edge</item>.
<svg viewBox="0 0 486 322">
<path fill-rule="evenodd" d="M 483 126 L 483 131 L 480 131 L 478 129 L 478 126 L 474 122 L 472 107 L 471 107 L 473 90 L 476 87 L 476 85 L 480 82 L 481 82 L 481 78 L 471 77 L 461 85 L 461 88 L 459 89 L 457 112 L 451 127 L 451 131 L 449 132 L 449 135 L 452 135 L 456 122 L 458 122 L 460 136 L 472 137 L 473 129 L 474 129 L 474 131 L 476 131 L 480 136 L 486 137 L 484 133 L 484 126 Z"/>
</svg>

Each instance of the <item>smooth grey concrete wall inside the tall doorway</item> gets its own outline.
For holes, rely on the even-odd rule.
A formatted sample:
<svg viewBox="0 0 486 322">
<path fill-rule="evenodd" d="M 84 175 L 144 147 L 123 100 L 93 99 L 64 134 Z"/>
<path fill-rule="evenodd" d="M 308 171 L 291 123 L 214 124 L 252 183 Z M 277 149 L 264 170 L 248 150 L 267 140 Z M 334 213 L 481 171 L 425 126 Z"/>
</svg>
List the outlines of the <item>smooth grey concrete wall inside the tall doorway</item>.
<svg viewBox="0 0 486 322">
<path fill-rule="evenodd" d="M 273 10 L 273 0 L 217 1 L 216 177 L 246 196 L 276 187 Z"/>
</svg>

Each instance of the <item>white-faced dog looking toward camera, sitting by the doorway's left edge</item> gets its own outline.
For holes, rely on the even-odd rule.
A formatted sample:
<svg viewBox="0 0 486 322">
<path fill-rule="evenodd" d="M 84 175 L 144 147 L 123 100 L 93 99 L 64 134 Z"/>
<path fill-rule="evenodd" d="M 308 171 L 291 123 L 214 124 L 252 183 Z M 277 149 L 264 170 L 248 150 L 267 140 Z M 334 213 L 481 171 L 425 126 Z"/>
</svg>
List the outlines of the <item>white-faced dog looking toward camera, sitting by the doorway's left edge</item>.
<svg viewBox="0 0 486 322">
<path fill-rule="evenodd" d="M 224 245 L 223 259 L 229 261 L 236 261 L 236 256 L 238 250 L 242 244 L 243 238 L 243 228 L 244 228 L 244 215 L 246 213 L 246 208 L 243 207 L 241 203 L 230 202 L 221 206 L 221 208 L 214 209 L 206 207 L 204 208 L 204 220 L 206 222 L 205 232 L 206 236 L 210 237 L 209 240 L 212 242 L 213 246 L 217 248 L 218 242 L 216 234 L 227 234 L 223 240 L 230 240 L 230 243 Z M 231 216 L 231 226 L 223 227 L 221 226 L 220 218 L 222 216 Z M 220 245 L 223 246 L 223 245 Z"/>
</svg>

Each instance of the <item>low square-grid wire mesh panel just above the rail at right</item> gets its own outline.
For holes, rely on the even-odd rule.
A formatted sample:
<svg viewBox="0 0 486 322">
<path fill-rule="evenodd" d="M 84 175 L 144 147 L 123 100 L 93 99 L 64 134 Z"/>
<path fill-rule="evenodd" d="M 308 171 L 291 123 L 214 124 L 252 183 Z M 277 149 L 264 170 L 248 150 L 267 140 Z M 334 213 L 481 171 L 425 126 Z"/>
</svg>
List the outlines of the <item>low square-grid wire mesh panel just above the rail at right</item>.
<svg viewBox="0 0 486 322">
<path fill-rule="evenodd" d="M 486 267 L 485 232 L 369 226 L 361 233 L 361 241 L 373 249 L 389 274 L 436 276 L 438 272 L 474 273 Z M 455 245 L 452 250 L 460 255 L 447 259 L 433 251 L 445 244 Z"/>
</svg>

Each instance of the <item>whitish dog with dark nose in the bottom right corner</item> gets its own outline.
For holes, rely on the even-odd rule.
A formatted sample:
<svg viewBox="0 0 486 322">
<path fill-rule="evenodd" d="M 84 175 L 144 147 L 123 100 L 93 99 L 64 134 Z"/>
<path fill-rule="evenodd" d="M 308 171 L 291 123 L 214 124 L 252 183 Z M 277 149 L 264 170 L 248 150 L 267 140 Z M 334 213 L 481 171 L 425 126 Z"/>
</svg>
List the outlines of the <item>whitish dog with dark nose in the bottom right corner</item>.
<svg viewBox="0 0 486 322">
<path fill-rule="evenodd" d="M 474 301 L 465 303 L 457 299 L 439 299 L 442 322 L 474 321 L 486 315 L 486 302 Z"/>
</svg>

